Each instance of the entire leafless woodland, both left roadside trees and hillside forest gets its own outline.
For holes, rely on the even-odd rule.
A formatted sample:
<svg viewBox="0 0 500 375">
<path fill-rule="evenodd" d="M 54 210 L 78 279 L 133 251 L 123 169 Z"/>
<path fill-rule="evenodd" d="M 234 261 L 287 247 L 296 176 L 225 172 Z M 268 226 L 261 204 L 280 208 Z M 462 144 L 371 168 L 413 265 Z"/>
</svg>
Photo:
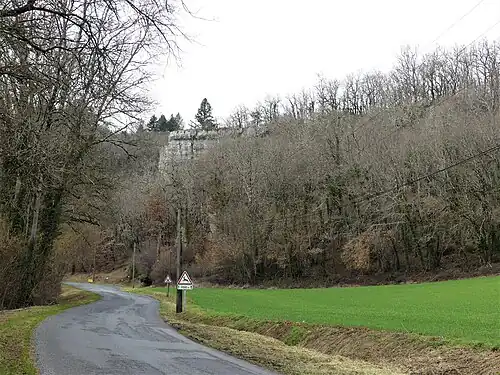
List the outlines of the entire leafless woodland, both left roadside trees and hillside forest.
<svg viewBox="0 0 500 375">
<path fill-rule="evenodd" d="M 67 273 L 130 270 L 134 247 L 139 278 L 163 280 L 179 209 L 183 261 L 213 282 L 500 261 L 498 43 L 408 47 L 389 72 L 238 107 L 227 126 L 265 131 L 158 171 L 145 66 L 176 53 L 182 2 L 58 6 L 0 9 L 0 308 L 52 301 Z"/>
</svg>

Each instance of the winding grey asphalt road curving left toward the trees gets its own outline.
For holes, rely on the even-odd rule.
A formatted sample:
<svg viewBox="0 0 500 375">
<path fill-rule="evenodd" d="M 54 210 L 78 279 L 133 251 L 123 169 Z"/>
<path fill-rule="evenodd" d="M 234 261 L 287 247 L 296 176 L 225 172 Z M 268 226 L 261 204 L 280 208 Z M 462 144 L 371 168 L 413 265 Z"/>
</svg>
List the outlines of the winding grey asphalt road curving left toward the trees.
<svg viewBox="0 0 500 375">
<path fill-rule="evenodd" d="M 152 298 L 108 286 L 72 285 L 103 298 L 38 327 L 41 375 L 272 375 L 180 335 L 163 322 Z"/>
</svg>

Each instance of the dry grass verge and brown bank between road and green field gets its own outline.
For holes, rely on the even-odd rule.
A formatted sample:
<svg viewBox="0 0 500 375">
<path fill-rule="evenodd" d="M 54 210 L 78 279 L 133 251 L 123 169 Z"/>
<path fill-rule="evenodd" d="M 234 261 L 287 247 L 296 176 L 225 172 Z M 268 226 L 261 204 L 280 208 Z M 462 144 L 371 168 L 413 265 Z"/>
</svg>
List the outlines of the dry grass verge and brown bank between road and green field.
<svg viewBox="0 0 500 375">
<path fill-rule="evenodd" d="M 285 375 L 500 374 L 495 348 L 364 328 L 258 321 L 209 313 L 193 304 L 175 314 L 174 301 L 165 293 L 127 291 L 159 300 L 162 317 L 186 336 Z"/>
</svg>

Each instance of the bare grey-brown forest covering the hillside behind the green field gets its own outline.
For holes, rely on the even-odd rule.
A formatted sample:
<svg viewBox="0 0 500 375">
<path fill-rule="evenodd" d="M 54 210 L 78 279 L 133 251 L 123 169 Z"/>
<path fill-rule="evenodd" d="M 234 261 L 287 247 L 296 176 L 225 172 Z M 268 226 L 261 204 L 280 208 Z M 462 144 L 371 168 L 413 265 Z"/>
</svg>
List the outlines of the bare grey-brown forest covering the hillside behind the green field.
<svg viewBox="0 0 500 375">
<path fill-rule="evenodd" d="M 388 73 L 321 77 L 311 90 L 238 107 L 227 119 L 265 128 L 259 136 L 229 137 L 163 173 L 143 173 L 152 159 L 137 158 L 115 193 L 111 242 L 95 233 L 103 227 L 85 226 L 100 244 L 99 267 L 115 251 L 103 243 L 126 243 L 130 254 L 135 241 L 141 280 L 175 273 L 180 208 L 183 261 L 203 280 L 328 284 L 494 272 L 499 51 L 489 42 L 426 56 L 405 48 Z M 89 272 L 85 259 L 77 271 Z"/>
</svg>

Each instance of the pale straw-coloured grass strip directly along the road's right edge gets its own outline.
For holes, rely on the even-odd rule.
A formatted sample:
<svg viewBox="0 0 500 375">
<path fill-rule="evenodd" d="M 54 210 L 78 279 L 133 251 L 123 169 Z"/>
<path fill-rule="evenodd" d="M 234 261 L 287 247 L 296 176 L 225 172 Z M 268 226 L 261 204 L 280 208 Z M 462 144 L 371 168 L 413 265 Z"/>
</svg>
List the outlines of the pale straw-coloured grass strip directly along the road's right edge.
<svg viewBox="0 0 500 375">
<path fill-rule="evenodd" d="M 251 327 L 242 322 L 236 328 L 229 321 L 212 317 L 191 304 L 188 304 L 187 312 L 176 314 L 174 300 L 167 298 L 165 293 L 152 292 L 147 288 L 124 290 L 159 300 L 161 316 L 185 336 L 284 375 L 406 374 L 398 366 L 372 364 L 364 360 L 290 345 L 272 335 L 260 334 L 256 326 Z"/>
</svg>

